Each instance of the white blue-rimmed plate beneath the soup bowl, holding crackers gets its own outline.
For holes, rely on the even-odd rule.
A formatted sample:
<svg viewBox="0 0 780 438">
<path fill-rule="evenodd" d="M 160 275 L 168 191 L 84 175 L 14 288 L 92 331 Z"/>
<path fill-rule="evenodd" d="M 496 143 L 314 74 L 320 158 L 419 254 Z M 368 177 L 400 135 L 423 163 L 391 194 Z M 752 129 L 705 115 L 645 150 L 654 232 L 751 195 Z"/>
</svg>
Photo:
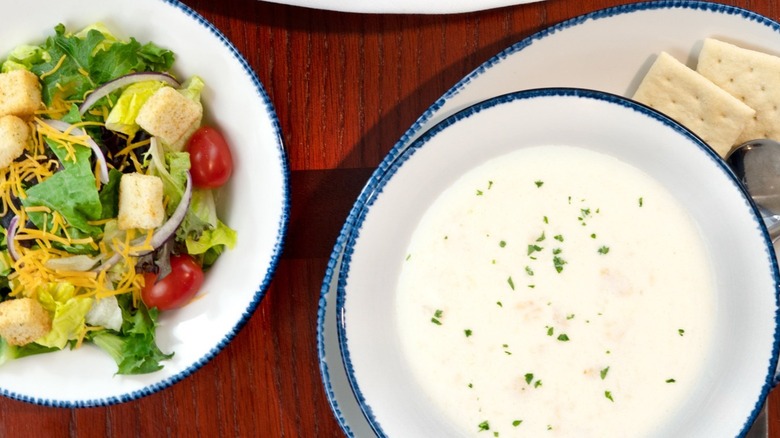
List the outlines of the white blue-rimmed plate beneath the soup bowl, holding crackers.
<svg viewBox="0 0 780 438">
<path fill-rule="evenodd" d="M 437 100 L 393 146 L 356 206 L 362 205 L 406 146 L 458 110 L 507 92 L 539 87 L 581 87 L 630 95 L 658 52 L 690 60 L 702 39 L 710 36 L 780 54 L 777 22 L 744 9 L 695 1 L 617 6 L 534 34 L 486 61 Z M 344 244 L 359 213 L 355 208 L 333 248 L 322 283 L 318 352 L 326 393 L 337 420 L 348 436 L 362 437 L 373 432 L 341 363 L 334 298 Z"/>
</svg>

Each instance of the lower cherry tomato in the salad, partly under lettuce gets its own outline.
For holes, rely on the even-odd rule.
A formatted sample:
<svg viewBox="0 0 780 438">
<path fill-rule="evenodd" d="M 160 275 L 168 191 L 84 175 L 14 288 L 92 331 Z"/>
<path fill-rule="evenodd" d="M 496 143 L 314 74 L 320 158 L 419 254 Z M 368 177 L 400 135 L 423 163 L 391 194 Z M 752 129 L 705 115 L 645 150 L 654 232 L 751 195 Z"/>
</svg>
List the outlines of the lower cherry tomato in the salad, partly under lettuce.
<svg viewBox="0 0 780 438">
<path fill-rule="evenodd" d="M 147 307 L 170 310 L 187 304 L 203 285 L 203 270 L 188 254 L 171 256 L 171 273 L 160 281 L 144 274 L 141 299 Z"/>
</svg>

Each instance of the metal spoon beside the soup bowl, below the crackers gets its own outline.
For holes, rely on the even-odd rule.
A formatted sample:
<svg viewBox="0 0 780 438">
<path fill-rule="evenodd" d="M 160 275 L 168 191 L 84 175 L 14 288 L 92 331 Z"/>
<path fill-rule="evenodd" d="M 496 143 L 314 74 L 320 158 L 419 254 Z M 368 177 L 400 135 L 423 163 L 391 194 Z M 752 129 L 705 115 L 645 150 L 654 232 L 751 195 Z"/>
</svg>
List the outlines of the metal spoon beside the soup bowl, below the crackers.
<svg viewBox="0 0 780 438">
<path fill-rule="evenodd" d="M 726 161 L 750 193 L 775 242 L 780 238 L 780 143 L 751 140 L 734 149 Z"/>
</svg>

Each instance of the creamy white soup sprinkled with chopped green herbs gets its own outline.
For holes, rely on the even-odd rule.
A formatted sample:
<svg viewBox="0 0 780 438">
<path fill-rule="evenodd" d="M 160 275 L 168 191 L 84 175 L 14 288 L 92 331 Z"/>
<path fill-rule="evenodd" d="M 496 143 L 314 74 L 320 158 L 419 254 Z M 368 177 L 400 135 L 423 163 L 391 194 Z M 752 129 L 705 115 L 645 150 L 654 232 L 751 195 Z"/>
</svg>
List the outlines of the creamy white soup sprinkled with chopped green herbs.
<svg viewBox="0 0 780 438">
<path fill-rule="evenodd" d="M 652 434 L 703 370 L 702 238 L 660 183 L 612 157 L 543 146 L 478 166 L 401 263 L 408 364 L 464 435 Z"/>
</svg>

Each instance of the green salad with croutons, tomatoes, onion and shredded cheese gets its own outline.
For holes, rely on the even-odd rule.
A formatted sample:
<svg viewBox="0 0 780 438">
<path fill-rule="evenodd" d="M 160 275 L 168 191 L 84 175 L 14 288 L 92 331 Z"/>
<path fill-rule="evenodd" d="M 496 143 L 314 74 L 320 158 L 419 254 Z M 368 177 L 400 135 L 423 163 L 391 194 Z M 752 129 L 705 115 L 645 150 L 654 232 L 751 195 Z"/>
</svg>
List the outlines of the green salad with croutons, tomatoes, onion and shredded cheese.
<svg viewBox="0 0 780 438">
<path fill-rule="evenodd" d="M 0 363 L 91 343 L 139 374 L 173 356 L 159 313 L 236 243 L 216 209 L 230 148 L 174 59 L 100 23 L 0 59 Z"/>
</svg>

